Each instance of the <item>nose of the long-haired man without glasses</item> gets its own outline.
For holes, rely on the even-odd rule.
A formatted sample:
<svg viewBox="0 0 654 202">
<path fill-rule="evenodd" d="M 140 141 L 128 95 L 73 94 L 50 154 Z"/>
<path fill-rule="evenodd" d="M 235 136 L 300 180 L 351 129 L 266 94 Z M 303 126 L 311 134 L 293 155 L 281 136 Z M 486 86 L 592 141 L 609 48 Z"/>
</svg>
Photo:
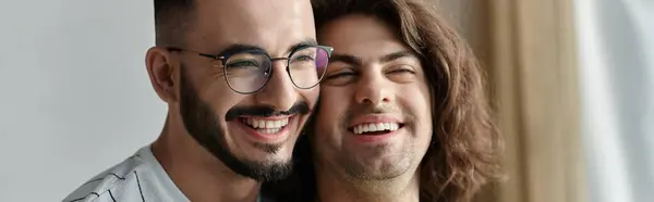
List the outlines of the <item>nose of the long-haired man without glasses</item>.
<svg viewBox="0 0 654 202">
<path fill-rule="evenodd" d="M 389 80 L 383 73 L 364 73 L 356 85 L 354 99 L 360 104 L 372 104 L 373 106 L 390 102 L 392 87 L 388 83 Z"/>
</svg>

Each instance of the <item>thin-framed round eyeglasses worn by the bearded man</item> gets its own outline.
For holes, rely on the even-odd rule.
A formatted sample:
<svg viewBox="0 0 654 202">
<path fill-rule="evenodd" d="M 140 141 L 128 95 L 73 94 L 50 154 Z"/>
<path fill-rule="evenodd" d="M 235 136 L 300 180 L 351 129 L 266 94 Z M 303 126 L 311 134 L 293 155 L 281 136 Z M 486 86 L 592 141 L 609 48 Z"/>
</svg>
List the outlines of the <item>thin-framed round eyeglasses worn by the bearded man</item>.
<svg viewBox="0 0 654 202">
<path fill-rule="evenodd" d="M 286 71 L 300 89 L 310 89 L 320 83 L 334 51 L 325 46 L 300 46 L 288 58 L 270 58 L 256 48 L 241 48 L 218 55 L 169 47 L 169 51 L 185 51 L 201 56 L 220 60 L 227 85 L 235 92 L 249 94 L 261 90 L 272 75 L 272 62 L 286 60 Z"/>
</svg>

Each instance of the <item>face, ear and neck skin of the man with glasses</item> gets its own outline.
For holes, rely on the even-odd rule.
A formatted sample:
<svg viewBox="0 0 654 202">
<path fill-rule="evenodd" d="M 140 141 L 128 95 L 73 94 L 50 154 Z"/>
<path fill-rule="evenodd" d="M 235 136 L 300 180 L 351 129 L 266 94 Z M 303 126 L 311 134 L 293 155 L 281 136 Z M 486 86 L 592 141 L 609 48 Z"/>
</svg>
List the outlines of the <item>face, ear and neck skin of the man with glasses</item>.
<svg viewBox="0 0 654 202">
<path fill-rule="evenodd" d="M 284 58 L 293 46 L 315 41 L 307 0 L 196 0 L 190 21 L 192 30 L 182 48 L 209 54 L 238 43 Z M 222 68 L 214 67 L 220 61 L 155 47 L 148 50 L 146 63 L 152 85 L 169 109 L 153 152 L 191 201 L 255 201 L 264 177 L 282 177 L 276 176 L 275 168 L 288 166 L 308 110 L 317 101 L 317 87 L 293 86 L 286 61 L 275 61 L 266 86 L 252 94 L 230 89 Z M 306 104 L 303 113 L 279 114 L 301 103 Z M 229 113 L 263 119 L 292 117 L 280 131 L 282 138 L 262 140 L 240 118 L 228 119 Z"/>
</svg>

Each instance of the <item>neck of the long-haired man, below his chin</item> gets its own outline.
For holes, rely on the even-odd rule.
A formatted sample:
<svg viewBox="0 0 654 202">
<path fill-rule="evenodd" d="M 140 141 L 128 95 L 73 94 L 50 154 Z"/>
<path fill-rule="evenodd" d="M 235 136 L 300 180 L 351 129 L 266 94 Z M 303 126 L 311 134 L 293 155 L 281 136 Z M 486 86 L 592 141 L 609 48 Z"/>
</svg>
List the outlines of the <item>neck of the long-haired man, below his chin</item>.
<svg viewBox="0 0 654 202">
<path fill-rule="evenodd" d="M 320 166 L 325 167 L 325 166 Z M 329 168 L 327 168 L 329 169 Z M 347 174 L 317 168 L 317 198 L 319 202 L 419 202 L 419 171 L 384 180 L 362 180 Z"/>
</svg>

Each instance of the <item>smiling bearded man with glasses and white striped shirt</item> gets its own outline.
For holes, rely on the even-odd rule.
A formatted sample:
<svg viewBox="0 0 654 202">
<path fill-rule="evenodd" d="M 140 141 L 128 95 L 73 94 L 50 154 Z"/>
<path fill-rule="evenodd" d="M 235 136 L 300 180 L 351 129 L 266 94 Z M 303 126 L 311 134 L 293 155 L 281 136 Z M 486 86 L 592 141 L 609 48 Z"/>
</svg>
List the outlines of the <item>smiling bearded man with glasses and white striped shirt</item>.
<svg viewBox="0 0 654 202">
<path fill-rule="evenodd" d="M 290 173 L 331 52 L 310 1 L 155 0 L 155 18 L 161 135 L 63 201 L 261 201 Z"/>
</svg>

